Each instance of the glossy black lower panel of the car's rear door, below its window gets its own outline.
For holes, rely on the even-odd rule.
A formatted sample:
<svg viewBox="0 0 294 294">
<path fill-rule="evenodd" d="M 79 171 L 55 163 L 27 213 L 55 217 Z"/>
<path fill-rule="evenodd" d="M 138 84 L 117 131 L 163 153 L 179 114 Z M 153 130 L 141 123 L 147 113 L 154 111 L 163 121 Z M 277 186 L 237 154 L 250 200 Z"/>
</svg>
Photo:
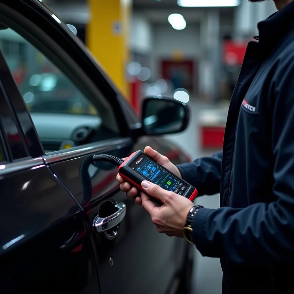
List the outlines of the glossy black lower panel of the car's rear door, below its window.
<svg viewBox="0 0 294 294">
<path fill-rule="evenodd" d="M 39 159 L 1 170 L 0 292 L 98 293 L 81 209 Z"/>
</svg>

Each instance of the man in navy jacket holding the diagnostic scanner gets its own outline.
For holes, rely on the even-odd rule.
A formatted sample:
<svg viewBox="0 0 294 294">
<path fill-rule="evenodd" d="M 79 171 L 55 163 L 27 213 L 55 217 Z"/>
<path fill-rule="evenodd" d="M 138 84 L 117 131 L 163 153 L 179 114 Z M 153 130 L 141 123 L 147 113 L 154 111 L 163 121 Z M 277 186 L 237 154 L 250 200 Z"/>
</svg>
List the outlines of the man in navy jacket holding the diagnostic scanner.
<svg viewBox="0 0 294 294">
<path fill-rule="evenodd" d="M 220 208 L 193 208 L 173 192 L 142 182 L 136 203 L 160 233 L 187 238 L 203 256 L 218 257 L 223 293 L 294 293 L 294 1 L 258 24 L 230 102 L 223 151 L 174 166 L 150 147 L 145 152 L 181 176 L 199 196 L 220 192 Z M 132 198 L 135 188 L 121 183 Z M 157 207 L 148 195 L 163 201 Z"/>
</svg>

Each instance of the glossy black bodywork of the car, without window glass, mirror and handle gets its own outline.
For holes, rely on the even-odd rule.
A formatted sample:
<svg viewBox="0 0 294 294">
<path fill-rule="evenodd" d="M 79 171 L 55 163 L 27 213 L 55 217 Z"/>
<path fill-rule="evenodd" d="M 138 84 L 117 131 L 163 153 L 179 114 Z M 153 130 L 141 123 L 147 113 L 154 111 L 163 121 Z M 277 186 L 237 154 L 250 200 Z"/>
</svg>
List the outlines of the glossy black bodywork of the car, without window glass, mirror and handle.
<svg viewBox="0 0 294 294">
<path fill-rule="evenodd" d="M 173 145 L 167 147 L 161 138 L 136 141 L 127 137 L 136 128 L 138 118 L 83 45 L 38 2 L 1 1 L 0 14 L 19 11 L 58 41 L 115 105 L 121 136 L 125 138 L 112 140 L 107 146 L 97 144 L 93 152 L 77 155 L 73 151 L 73 156 L 70 152 L 63 156 L 63 151 L 44 156 L 39 140 L 34 141 L 37 156 L 43 157 L 34 161 L 29 155 L 36 154 L 29 144 L 31 136 L 38 138 L 36 130 L 27 118 L 25 123 L 21 119 L 29 117 L 25 104 L 12 77 L 6 79 L 8 83 L 1 87 L 0 95 L 1 121 L 5 116 L 16 124 L 18 144 L 26 150 L 28 159 L 7 164 L 9 173 L 6 167 L 0 173 L 0 292 L 167 293 L 182 270 L 188 245 L 183 239 L 158 234 L 147 213 L 119 191 L 117 168 L 106 163 L 94 166 L 91 156 L 108 153 L 126 157 L 146 145 L 167 154 L 173 151 Z M 5 65 L 4 61 L 0 78 L 9 73 Z M 12 94 L 14 100 L 10 99 Z M 5 110 L 4 98 L 9 98 Z M 4 132 L 3 144 L 11 150 L 15 142 L 8 140 L 8 135 Z M 177 154 L 183 156 L 182 152 Z M 181 159 L 176 156 L 173 161 L 179 163 Z M 113 240 L 92 228 L 93 219 L 101 213 L 101 203 L 107 199 L 123 201 L 127 206 Z"/>
</svg>

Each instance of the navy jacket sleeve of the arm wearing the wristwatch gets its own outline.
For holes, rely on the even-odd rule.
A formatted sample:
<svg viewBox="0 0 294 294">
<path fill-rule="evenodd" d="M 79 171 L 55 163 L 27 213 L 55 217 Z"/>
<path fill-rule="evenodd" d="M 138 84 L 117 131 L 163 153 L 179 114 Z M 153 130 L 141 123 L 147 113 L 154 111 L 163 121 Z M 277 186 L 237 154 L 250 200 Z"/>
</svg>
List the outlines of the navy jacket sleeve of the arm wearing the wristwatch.
<svg viewBox="0 0 294 294">
<path fill-rule="evenodd" d="M 290 69 L 290 73 L 289 73 Z M 200 208 L 193 240 L 203 256 L 236 263 L 294 261 L 294 66 L 273 79 L 272 151 L 274 202 L 246 208 Z"/>
</svg>

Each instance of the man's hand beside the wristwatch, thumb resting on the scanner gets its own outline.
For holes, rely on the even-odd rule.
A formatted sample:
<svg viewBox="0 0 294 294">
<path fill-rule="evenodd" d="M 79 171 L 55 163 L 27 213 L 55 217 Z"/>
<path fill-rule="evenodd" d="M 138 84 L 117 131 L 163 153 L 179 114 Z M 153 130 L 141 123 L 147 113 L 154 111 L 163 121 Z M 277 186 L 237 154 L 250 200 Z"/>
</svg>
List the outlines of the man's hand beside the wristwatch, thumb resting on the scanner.
<svg viewBox="0 0 294 294">
<path fill-rule="evenodd" d="M 143 181 L 141 186 L 148 195 L 163 202 L 163 205 L 158 207 L 146 193 L 141 192 L 142 206 L 150 214 L 158 232 L 170 237 L 183 237 L 183 228 L 188 212 L 194 206 L 193 202 L 149 181 Z"/>
</svg>

